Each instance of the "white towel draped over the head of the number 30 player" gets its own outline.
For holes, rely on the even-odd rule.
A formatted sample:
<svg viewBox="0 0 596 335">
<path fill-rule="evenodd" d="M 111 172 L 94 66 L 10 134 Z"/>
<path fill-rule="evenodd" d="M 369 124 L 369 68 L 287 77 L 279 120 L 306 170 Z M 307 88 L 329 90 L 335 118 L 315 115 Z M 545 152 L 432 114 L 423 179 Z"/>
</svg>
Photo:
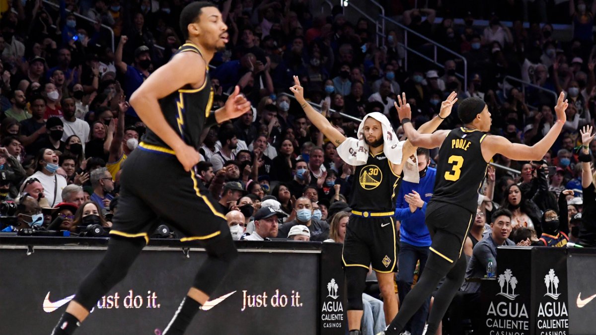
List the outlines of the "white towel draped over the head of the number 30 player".
<svg viewBox="0 0 596 335">
<path fill-rule="evenodd" d="M 364 140 L 364 131 L 362 131 L 362 128 L 364 128 L 364 122 L 368 117 L 372 117 L 381 123 L 381 128 L 383 128 L 384 134 L 383 153 L 389 162 L 395 165 L 400 165 L 402 163 L 402 149 L 405 141 L 399 141 L 398 135 L 396 135 L 395 131 L 393 131 L 393 127 L 391 126 L 389 119 L 376 111 L 373 113 L 368 113 L 364 116 L 364 119 L 362 119 L 362 122 L 358 127 L 358 138 L 346 138 L 346 140 L 343 141 L 339 147 L 337 147 L 337 153 L 340 157 L 342 157 L 343 161 L 349 165 L 358 166 L 365 165 L 367 163 L 368 144 Z M 413 157 L 414 159 L 408 157 L 407 163 L 403 165 L 403 180 L 409 182 L 419 182 L 420 173 L 418 173 L 418 162 L 416 155 Z"/>
</svg>

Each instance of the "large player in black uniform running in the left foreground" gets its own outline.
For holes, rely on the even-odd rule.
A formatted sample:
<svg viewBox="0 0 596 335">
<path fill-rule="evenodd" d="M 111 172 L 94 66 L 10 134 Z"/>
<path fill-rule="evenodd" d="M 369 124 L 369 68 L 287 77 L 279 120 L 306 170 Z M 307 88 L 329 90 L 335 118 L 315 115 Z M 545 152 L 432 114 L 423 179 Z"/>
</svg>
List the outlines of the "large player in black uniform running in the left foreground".
<svg viewBox="0 0 596 335">
<path fill-rule="evenodd" d="M 120 202 L 104 259 L 88 275 L 52 334 L 72 334 L 97 301 L 125 277 L 161 220 L 203 241 L 207 260 L 164 334 L 182 334 L 237 256 L 225 216 L 194 171 L 203 130 L 246 113 L 238 86 L 224 107 L 210 112 L 209 61 L 228 42 L 215 5 L 193 2 L 180 15 L 187 43 L 132 95 L 130 103 L 148 132 L 122 170 Z"/>
</svg>

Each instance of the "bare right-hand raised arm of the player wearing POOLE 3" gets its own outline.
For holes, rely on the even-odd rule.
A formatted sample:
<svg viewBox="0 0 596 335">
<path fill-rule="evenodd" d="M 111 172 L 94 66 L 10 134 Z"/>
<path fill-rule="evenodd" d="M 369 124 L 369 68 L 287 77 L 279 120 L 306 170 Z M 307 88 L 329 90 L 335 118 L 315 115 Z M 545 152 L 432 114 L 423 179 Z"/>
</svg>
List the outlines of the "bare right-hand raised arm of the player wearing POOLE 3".
<svg viewBox="0 0 596 335">
<path fill-rule="evenodd" d="M 569 103 L 564 99 L 565 94 L 561 92 L 555 106 L 555 112 L 557 113 L 557 122 L 551 127 L 547 135 L 542 138 L 538 143 L 532 145 L 511 143 L 507 138 L 501 136 L 489 136 L 486 137 L 483 142 L 483 154 L 487 157 L 492 157 L 494 154 L 502 154 L 505 157 L 513 160 L 541 160 L 542 157 L 547 153 L 548 149 L 552 147 L 552 144 L 557 139 L 558 135 L 563 129 L 563 125 L 567 116 L 565 110 Z"/>
</svg>

